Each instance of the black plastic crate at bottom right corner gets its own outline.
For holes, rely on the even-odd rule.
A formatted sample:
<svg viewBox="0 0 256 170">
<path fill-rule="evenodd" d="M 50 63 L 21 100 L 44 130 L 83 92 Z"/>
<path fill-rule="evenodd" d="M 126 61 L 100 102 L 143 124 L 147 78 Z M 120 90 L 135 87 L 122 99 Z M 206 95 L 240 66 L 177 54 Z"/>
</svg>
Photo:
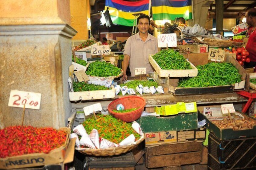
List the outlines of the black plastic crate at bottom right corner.
<svg viewBox="0 0 256 170">
<path fill-rule="evenodd" d="M 221 141 L 210 133 L 208 169 L 256 169 L 256 137 Z"/>
</svg>

